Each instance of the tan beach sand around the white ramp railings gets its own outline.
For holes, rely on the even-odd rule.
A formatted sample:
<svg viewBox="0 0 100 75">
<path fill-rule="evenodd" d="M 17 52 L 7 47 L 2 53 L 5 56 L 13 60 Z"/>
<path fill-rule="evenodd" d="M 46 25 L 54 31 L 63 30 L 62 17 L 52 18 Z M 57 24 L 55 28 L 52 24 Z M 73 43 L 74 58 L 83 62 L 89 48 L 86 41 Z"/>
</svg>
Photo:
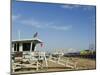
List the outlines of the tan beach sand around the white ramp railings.
<svg viewBox="0 0 100 75">
<path fill-rule="evenodd" d="M 67 61 L 68 57 L 62 57 L 61 58 L 64 61 Z M 89 70 L 89 69 L 95 69 L 96 68 L 96 62 L 92 59 L 85 59 L 85 58 L 71 58 L 71 62 L 77 61 L 77 69 L 72 69 L 70 67 L 66 67 L 64 65 L 57 64 L 56 62 L 52 62 L 48 60 L 48 67 L 39 68 L 37 71 L 35 68 L 23 68 L 18 69 L 12 74 L 20 74 L 20 73 L 38 73 L 38 72 L 54 72 L 54 71 L 69 71 L 69 70 Z M 45 62 L 43 62 L 43 65 L 45 65 Z"/>
</svg>

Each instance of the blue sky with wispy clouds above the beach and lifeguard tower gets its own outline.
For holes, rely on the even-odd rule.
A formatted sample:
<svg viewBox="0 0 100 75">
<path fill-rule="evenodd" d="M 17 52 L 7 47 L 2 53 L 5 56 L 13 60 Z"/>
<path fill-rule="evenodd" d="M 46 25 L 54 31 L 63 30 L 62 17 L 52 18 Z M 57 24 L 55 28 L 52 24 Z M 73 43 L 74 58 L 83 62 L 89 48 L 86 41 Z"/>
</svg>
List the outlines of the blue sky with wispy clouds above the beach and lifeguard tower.
<svg viewBox="0 0 100 75">
<path fill-rule="evenodd" d="M 12 2 L 12 39 L 38 38 L 44 47 L 54 49 L 84 50 L 95 44 L 95 6 Z"/>
</svg>

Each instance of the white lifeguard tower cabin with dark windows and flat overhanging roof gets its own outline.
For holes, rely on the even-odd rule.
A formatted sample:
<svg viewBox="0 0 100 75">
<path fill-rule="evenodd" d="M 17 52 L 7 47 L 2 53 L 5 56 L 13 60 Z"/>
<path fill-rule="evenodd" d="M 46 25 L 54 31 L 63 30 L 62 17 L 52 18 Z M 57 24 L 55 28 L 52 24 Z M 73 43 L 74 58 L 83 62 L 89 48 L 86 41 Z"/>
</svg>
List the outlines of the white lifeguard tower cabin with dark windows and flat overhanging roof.
<svg viewBox="0 0 100 75">
<path fill-rule="evenodd" d="M 36 50 L 36 45 L 41 43 L 38 38 L 13 40 L 12 52 L 33 52 Z"/>
</svg>

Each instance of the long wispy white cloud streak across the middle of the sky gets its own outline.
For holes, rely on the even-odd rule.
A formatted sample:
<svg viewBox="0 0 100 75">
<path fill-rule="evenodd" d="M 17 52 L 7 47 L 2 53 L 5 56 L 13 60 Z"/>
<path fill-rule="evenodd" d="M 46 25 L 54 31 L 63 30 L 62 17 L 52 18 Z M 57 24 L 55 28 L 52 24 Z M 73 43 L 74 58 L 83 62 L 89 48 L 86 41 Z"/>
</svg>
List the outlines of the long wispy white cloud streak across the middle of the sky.
<svg viewBox="0 0 100 75">
<path fill-rule="evenodd" d="M 40 28 L 40 29 L 53 29 L 53 30 L 67 31 L 72 28 L 71 25 L 57 26 L 55 25 L 56 23 L 53 22 L 46 23 L 46 22 L 36 21 L 34 19 L 22 20 L 21 23 L 24 25 L 33 26 L 35 28 Z"/>
</svg>

